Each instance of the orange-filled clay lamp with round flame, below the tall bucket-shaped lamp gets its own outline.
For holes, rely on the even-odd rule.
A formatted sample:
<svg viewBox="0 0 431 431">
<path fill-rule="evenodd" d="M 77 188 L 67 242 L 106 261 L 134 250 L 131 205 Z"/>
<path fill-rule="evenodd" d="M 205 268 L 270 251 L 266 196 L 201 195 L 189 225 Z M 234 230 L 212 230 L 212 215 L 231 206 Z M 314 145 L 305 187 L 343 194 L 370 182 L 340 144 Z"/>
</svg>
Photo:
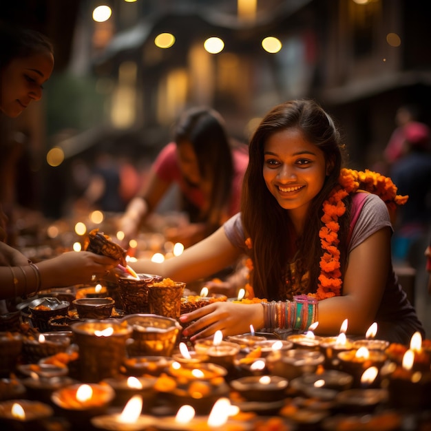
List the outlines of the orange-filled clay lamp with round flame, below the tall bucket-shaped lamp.
<svg viewBox="0 0 431 431">
<path fill-rule="evenodd" d="M 51 400 L 73 425 L 88 423 L 104 414 L 115 397 L 107 383 L 76 383 L 52 392 Z"/>
</svg>

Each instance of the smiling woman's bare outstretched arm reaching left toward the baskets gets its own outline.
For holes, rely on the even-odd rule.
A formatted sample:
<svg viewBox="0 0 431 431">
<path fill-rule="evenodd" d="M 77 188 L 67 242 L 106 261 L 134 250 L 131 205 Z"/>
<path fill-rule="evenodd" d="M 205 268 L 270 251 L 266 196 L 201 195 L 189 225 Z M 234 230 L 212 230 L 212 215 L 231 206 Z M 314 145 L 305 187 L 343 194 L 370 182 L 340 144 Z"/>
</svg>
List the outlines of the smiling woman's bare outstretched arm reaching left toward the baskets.
<svg viewBox="0 0 431 431">
<path fill-rule="evenodd" d="M 217 273 L 236 262 L 241 253 L 227 238 L 224 227 L 220 227 L 177 257 L 171 257 L 162 263 L 138 260 L 131 262 L 130 266 L 137 273 L 157 274 L 187 283 Z"/>
</svg>

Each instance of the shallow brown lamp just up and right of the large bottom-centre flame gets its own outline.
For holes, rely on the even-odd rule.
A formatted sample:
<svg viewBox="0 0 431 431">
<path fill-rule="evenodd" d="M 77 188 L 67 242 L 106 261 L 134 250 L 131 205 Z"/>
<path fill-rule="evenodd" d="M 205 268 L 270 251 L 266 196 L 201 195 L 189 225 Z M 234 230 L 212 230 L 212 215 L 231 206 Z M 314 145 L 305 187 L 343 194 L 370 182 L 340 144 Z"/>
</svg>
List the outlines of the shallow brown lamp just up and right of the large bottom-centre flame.
<svg viewBox="0 0 431 431">
<path fill-rule="evenodd" d="M 249 376 L 232 380 L 231 388 L 247 401 L 277 401 L 286 396 L 287 379 L 279 376 Z"/>
</svg>

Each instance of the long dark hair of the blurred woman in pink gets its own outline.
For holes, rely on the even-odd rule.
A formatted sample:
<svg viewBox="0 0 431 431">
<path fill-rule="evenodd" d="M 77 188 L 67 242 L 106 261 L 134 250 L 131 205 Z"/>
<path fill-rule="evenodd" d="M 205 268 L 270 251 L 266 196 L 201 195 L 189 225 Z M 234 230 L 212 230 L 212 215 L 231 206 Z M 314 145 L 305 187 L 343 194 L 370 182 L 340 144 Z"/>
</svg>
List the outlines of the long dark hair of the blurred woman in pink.
<svg viewBox="0 0 431 431">
<path fill-rule="evenodd" d="M 229 204 L 233 181 L 232 147 L 222 117 L 207 107 L 191 108 L 178 120 L 174 137 L 177 145 L 191 144 L 198 159 L 200 176 L 211 180 L 211 204 L 198 219 L 216 229 L 222 211 Z"/>
</svg>

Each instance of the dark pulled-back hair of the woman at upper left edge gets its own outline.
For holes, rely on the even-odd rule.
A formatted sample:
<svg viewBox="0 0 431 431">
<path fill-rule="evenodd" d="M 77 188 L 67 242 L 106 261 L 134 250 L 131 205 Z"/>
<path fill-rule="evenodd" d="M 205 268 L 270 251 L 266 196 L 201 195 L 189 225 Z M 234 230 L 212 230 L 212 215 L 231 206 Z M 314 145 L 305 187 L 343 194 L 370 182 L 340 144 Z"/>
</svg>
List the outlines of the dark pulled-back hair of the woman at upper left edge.
<svg viewBox="0 0 431 431">
<path fill-rule="evenodd" d="M 13 59 L 28 57 L 40 52 L 54 54 L 51 41 L 44 34 L 0 21 L 0 72 Z"/>
</svg>

